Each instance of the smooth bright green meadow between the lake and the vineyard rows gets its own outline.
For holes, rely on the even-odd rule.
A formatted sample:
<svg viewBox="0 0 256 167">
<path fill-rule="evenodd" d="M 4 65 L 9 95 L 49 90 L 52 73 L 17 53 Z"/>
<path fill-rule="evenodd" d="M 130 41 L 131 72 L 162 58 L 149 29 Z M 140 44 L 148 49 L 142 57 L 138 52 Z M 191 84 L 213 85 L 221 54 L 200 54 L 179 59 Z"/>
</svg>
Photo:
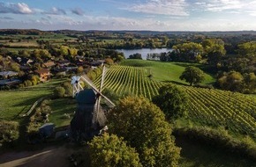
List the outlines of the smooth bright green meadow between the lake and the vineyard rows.
<svg viewBox="0 0 256 167">
<path fill-rule="evenodd" d="M 200 68 L 201 64 L 186 63 L 186 62 L 154 62 L 145 60 L 124 60 L 121 65 L 144 67 L 148 74 L 152 74 L 153 78 L 161 82 L 174 82 L 180 84 L 187 84 L 179 79 L 185 67 L 197 66 Z M 212 84 L 215 82 L 215 77 L 212 74 L 206 73 L 205 81 L 202 84 Z"/>
</svg>

